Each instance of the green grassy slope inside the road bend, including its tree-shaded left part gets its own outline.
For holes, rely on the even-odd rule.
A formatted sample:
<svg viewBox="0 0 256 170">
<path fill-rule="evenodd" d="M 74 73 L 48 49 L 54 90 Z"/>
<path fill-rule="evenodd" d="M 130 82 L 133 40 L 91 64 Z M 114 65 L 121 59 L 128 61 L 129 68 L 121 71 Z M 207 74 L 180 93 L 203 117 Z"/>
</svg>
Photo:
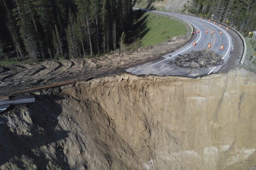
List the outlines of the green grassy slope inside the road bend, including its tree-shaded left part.
<svg viewBox="0 0 256 170">
<path fill-rule="evenodd" d="M 137 22 L 133 31 L 128 35 L 130 45 L 126 49 L 140 46 L 150 46 L 164 42 L 172 37 L 186 35 L 185 25 L 169 17 L 163 17 L 152 13 L 135 12 Z"/>
</svg>

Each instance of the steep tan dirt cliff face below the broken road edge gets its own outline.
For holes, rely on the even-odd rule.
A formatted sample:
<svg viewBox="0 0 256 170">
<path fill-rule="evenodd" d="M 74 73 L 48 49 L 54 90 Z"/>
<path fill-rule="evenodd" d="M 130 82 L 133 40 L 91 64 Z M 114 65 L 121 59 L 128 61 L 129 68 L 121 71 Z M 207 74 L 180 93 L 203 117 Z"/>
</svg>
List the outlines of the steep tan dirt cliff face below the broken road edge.
<svg viewBox="0 0 256 170">
<path fill-rule="evenodd" d="M 0 169 L 256 169 L 256 75 L 122 74 L 0 115 Z"/>
</svg>

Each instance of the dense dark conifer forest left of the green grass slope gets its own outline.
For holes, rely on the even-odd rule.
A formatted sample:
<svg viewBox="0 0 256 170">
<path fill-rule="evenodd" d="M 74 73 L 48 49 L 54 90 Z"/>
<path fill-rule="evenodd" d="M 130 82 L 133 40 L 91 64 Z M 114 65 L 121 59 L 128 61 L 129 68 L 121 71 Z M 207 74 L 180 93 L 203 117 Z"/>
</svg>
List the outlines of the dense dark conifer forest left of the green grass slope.
<svg viewBox="0 0 256 170">
<path fill-rule="evenodd" d="M 132 0 L 0 0 L 0 58 L 106 53 L 132 22 Z"/>
</svg>

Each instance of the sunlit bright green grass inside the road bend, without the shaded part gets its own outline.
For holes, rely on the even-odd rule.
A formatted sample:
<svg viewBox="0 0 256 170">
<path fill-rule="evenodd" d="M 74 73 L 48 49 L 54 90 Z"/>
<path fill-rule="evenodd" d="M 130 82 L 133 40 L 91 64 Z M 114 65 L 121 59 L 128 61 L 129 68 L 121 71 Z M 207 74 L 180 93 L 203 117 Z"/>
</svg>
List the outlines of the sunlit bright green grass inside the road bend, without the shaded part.
<svg viewBox="0 0 256 170">
<path fill-rule="evenodd" d="M 142 46 L 158 44 L 172 37 L 185 35 L 187 32 L 183 23 L 168 17 L 145 13 L 141 18 L 146 18 L 145 28 L 140 34 Z"/>
</svg>

